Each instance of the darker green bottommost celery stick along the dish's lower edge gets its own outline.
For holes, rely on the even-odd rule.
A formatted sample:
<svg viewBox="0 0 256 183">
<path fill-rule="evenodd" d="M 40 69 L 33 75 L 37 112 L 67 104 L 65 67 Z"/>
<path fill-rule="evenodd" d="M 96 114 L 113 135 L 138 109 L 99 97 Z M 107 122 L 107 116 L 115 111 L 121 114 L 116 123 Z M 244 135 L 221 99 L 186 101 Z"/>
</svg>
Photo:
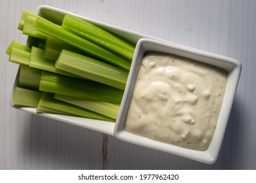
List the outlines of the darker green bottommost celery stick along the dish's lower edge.
<svg viewBox="0 0 256 183">
<path fill-rule="evenodd" d="M 65 103 L 63 101 L 54 99 L 54 93 L 43 92 L 38 106 L 39 108 L 47 108 L 49 111 L 52 109 L 53 112 L 61 111 L 75 116 L 81 116 L 84 118 L 93 118 L 98 120 L 114 122 L 114 119 L 108 116 L 104 116 L 91 110 L 87 110 L 85 108 L 77 107 L 75 105 L 71 105 L 69 103 Z"/>
</svg>

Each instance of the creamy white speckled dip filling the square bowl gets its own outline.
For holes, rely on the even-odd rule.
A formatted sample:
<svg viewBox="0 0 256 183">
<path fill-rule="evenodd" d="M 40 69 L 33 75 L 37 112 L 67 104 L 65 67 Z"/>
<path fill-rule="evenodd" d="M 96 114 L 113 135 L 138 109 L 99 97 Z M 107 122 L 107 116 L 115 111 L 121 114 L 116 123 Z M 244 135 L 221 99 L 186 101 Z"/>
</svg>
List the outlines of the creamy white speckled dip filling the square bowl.
<svg viewBox="0 0 256 183">
<path fill-rule="evenodd" d="M 125 131 L 194 150 L 213 138 L 227 74 L 224 69 L 171 54 L 142 59 Z"/>
</svg>

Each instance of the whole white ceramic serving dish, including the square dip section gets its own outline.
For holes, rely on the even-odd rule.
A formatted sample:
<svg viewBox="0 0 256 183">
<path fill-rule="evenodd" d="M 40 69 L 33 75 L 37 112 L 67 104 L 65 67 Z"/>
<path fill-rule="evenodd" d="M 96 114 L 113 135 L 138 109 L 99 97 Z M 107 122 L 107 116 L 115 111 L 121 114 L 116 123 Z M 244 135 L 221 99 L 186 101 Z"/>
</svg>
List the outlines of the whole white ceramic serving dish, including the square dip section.
<svg viewBox="0 0 256 183">
<path fill-rule="evenodd" d="M 231 58 L 226 58 L 224 56 L 219 56 L 217 54 L 211 54 L 208 52 L 203 52 L 201 50 L 197 50 L 194 48 L 189 48 L 187 46 L 182 46 L 180 44 L 175 44 L 173 42 L 167 42 L 155 37 L 150 37 L 148 35 L 144 35 L 141 33 L 136 33 L 134 31 L 129 31 L 127 29 L 123 29 L 120 27 L 116 27 L 109 24 L 104 24 L 102 22 L 97 22 L 95 20 L 91 20 L 89 18 L 85 18 L 83 16 L 79 16 L 77 14 L 67 12 L 65 10 L 60 10 L 58 8 L 49 7 L 45 5 L 41 5 L 37 8 L 36 14 L 54 22 L 56 24 L 61 24 L 65 14 L 72 14 L 81 18 L 82 20 L 87 20 L 88 22 L 92 22 L 93 24 L 99 25 L 104 29 L 119 35 L 119 37 L 123 37 L 124 39 L 136 44 L 135 48 L 135 55 L 133 57 L 133 63 L 131 66 L 131 71 L 129 73 L 129 78 L 127 80 L 127 86 L 125 88 L 125 93 L 123 97 L 123 101 L 121 102 L 121 108 L 117 117 L 117 122 L 106 122 L 102 120 L 93 120 L 89 118 L 81 118 L 75 116 L 65 116 L 60 114 L 39 114 L 36 112 L 35 108 L 31 107 L 16 107 L 12 104 L 12 107 L 24 110 L 26 112 L 30 112 L 32 114 L 37 114 L 40 116 L 45 116 L 47 118 L 51 118 L 54 120 L 58 120 L 61 122 L 65 122 L 72 125 L 77 125 L 79 127 L 84 127 L 87 129 L 91 129 L 93 131 L 98 131 L 100 133 L 106 133 L 108 135 L 112 135 L 117 137 L 117 139 L 121 139 L 123 141 L 131 142 L 133 144 L 139 144 L 141 146 L 146 146 L 148 148 L 154 148 L 156 150 L 161 150 L 163 152 L 168 152 L 171 154 L 176 154 L 178 156 L 183 156 L 185 158 L 194 159 L 196 161 L 200 161 L 203 163 L 214 163 L 217 160 L 217 156 L 219 154 L 219 150 L 221 148 L 221 142 L 223 141 L 224 131 L 226 129 L 226 124 L 228 122 L 228 116 L 230 114 L 230 110 L 232 107 L 232 101 L 234 99 L 234 95 L 236 92 L 236 87 L 238 85 L 238 80 L 240 77 L 241 65 L 239 61 Z M 158 44 L 163 44 L 163 47 L 156 48 L 156 42 Z M 28 45 L 31 45 L 32 42 L 28 39 Z M 123 124 L 127 112 L 127 106 L 129 105 L 129 99 L 131 98 L 131 92 L 133 91 L 135 75 L 139 68 L 139 61 L 137 59 L 142 57 L 142 53 L 148 51 L 161 51 L 165 50 L 166 52 L 171 52 L 178 56 L 184 56 L 186 58 L 195 59 L 198 61 L 203 61 L 209 64 L 216 65 L 218 67 L 223 67 L 228 71 L 228 84 L 226 86 L 226 91 L 228 91 L 228 95 L 225 94 L 224 96 L 224 107 L 221 108 L 220 114 L 220 122 L 218 122 L 217 129 L 215 131 L 215 135 L 213 137 L 213 141 L 209 148 L 203 152 L 195 151 L 195 150 L 188 150 L 185 148 L 179 148 L 177 146 L 167 146 L 166 144 L 160 144 L 159 142 L 148 141 L 148 139 L 140 139 L 135 137 L 134 135 L 128 134 L 123 131 Z M 206 61 L 205 61 L 206 60 Z M 14 82 L 13 89 L 17 85 L 18 82 L 18 73 L 16 76 L 16 80 Z M 11 101 L 13 97 L 11 95 Z M 227 92 L 226 92 L 227 93 Z"/>
</svg>

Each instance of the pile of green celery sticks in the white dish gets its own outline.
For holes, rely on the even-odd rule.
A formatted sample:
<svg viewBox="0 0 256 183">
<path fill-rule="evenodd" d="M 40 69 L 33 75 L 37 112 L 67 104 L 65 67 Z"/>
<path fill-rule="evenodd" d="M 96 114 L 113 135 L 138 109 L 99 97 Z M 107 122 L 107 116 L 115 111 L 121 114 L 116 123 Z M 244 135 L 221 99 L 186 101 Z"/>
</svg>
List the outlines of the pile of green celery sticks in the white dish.
<svg viewBox="0 0 256 183">
<path fill-rule="evenodd" d="M 6 50 L 20 65 L 13 105 L 116 121 L 133 44 L 70 14 L 58 25 L 23 10 L 18 29 L 30 43 L 12 41 Z"/>
</svg>

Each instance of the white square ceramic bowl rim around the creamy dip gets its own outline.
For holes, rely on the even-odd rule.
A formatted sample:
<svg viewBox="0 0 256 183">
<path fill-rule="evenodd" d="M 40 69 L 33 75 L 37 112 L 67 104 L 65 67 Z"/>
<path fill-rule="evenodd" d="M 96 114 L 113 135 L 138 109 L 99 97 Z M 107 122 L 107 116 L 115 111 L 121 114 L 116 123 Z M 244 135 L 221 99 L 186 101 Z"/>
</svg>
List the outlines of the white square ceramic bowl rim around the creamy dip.
<svg viewBox="0 0 256 183">
<path fill-rule="evenodd" d="M 140 137 L 139 135 L 134 135 L 133 133 L 129 133 L 123 129 L 125 125 L 127 111 L 129 109 L 129 103 L 133 95 L 133 88 L 135 86 L 137 74 L 140 69 L 140 63 L 144 54 L 150 51 L 175 54 L 177 56 L 194 59 L 203 63 L 208 63 L 209 65 L 215 65 L 217 67 L 226 69 L 228 76 L 226 91 L 223 98 L 223 105 L 221 107 L 213 139 L 207 150 L 200 151 L 181 148 L 179 146 L 174 146 L 163 142 L 153 141 L 145 137 Z M 145 146 L 147 148 L 175 154 L 184 158 L 194 159 L 202 163 L 215 163 L 219 156 L 219 150 L 223 142 L 224 132 L 226 130 L 226 125 L 228 123 L 228 118 L 230 110 L 232 108 L 234 95 L 236 93 L 238 80 L 240 78 L 241 68 L 242 66 L 240 62 L 236 59 L 226 58 L 217 54 L 211 54 L 192 48 L 186 48 L 184 46 L 170 44 L 168 42 L 156 41 L 154 39 L 140 39 L 137 42 L 137 46 L 135 48 L 135 55 L 133 57 L 133 62 L 131 65 L 131 71 L 129 73 L 125 93 L 123 95 L 123 100 L 121 102 L 121 107 L 117 116 L 116 125 L 114 127 L 114 136 L 122 141 L 131 142 L 133 144 Z"/>
</svg>

